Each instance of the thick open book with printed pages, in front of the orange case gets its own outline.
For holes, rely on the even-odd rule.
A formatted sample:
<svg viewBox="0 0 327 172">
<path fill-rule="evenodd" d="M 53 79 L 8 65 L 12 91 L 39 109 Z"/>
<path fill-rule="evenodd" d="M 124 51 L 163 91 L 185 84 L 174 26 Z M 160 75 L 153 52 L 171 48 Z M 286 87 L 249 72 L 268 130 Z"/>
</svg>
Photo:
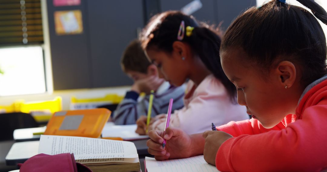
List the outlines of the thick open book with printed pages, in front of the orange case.
<svg viewBox="0 0 327 172">
<path fill-rule="evenodd" d="M 92 171 L 141 171 L 134 143 L 100 138 L 41 135 L 39 152 L 74 153 Z"/>
</svg>

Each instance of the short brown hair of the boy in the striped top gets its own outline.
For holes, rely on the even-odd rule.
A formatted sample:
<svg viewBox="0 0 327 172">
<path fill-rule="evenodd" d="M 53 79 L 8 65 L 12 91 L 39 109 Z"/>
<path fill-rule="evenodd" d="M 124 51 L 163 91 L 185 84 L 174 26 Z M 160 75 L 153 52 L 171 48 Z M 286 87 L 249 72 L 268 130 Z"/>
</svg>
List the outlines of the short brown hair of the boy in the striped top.
<svg viewBox="0 0 327 172">
<path fill-rule="evenodd" d="M 146 58 L 139 40 L 129 43 L 120 60 L 124 72 L 136 71 L 146 74 L 147 67 L 151 64 Z"/>
</svg>

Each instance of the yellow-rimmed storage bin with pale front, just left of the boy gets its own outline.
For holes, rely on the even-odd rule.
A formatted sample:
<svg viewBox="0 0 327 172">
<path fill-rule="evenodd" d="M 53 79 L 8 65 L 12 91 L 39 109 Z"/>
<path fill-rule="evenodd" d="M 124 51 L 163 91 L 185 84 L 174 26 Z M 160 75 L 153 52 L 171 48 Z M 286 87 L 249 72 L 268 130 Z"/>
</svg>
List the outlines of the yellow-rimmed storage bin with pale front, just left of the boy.
<svg viewBox="0 0 327 172">
<path fill-rule="evenodd" d="M 118 94 L 107 94 L 104 97 L 84 99 L 77 99 L 76 97 L 72 97 L 70 109 L 93 109 L 102 105 L 119 104 L 123 99 L 124 96 L 120 96 Z"/>
</svg>

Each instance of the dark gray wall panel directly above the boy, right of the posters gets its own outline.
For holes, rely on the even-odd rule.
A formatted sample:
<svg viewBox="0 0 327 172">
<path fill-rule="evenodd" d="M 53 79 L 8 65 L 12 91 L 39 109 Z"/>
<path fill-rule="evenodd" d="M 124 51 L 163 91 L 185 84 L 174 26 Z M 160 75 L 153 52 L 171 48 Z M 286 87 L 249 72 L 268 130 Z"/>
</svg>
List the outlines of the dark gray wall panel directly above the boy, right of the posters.
<svg viewBox="0 0 327 172">
<path fill-rule="evenodd" d="M 137 37 L 137 28 L 144 25 L 142 0 L 87 2 L 92 87 L 131 84 L 119 61 L 126 46 Z"/>
</svg>

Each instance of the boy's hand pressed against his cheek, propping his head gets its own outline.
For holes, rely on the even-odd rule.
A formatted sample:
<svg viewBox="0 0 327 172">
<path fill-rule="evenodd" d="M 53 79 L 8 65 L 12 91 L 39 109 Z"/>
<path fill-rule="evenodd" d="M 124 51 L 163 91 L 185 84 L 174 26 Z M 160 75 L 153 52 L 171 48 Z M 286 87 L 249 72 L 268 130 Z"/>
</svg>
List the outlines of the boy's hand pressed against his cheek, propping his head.
<svg viewBox="0 0 327 172">
<path fill-rule="evenodd" d="M 158 87 L 163 83 L 164 79 L 158 78 L 157 76 L 149 76 L 144 79 L 139 79 L 134 82 L 131 90 L 137 93 L 144 92 L 150 94 L 151 90 L 156 91 Z"/>
</svg>

